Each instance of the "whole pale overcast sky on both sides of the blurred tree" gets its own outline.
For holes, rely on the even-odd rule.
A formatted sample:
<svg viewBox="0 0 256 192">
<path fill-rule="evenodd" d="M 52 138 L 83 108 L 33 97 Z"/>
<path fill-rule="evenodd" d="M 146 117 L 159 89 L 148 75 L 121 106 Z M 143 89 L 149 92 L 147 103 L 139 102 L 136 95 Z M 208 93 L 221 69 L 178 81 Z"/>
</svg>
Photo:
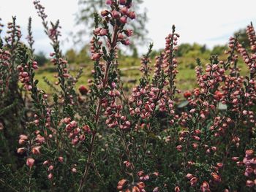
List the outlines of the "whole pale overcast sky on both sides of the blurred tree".
<svg viewBox="0 0 256 192">
<path fill-rule="evenodd" d="M 70 38 L 70 32 L 78 28 L 75 27 L 78 0 L 41 2 L 50 20 L 60 19 L 62 50 L 70 47 L 79 49 L 80 45 L 75 46 Z M 256 26 L 255 7 L 255 0 L 144 0 L 143 4 L 143 8 L 148 11 L 148 39 L 154 42 L 155 49 L 165 46 L 165 37 L 173 24 L 181 36 L 179 43 L 197 42 L 210 48 L 223 45 L 234 31 L 245 28 L 251 21 Z M 12 15 L 17 16 L 23 37 L 26 37 L 28 18 L 31 16 L 37 53 L 50 53 L 48 37 L 43 32 L 32 0 L 0 0 L 2 23 L 12 20 Z M 146 52 L 147 46 L 148 42 L 145 42 L 145 46 L 140 47 L 140 53 Z"/>
</svg>

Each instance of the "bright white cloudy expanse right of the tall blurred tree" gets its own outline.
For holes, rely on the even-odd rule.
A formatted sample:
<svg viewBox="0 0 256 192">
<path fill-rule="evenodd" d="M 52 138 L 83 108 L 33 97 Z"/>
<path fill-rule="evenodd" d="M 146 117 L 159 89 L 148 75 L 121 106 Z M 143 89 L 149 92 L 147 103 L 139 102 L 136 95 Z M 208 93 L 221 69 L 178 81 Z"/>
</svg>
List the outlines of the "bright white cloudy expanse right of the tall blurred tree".
<svg viewBox="0 0 256 192">
<path fill-rule="evenodd" d="M 176 25 L 180 42 L 199 42 L 209 47 L 224 44 L 234 31 L 255 21 L 252 0 L 146 0 L 148 36 L 155 47 L 165 45 L 164 37 Z"/>
</svg>

